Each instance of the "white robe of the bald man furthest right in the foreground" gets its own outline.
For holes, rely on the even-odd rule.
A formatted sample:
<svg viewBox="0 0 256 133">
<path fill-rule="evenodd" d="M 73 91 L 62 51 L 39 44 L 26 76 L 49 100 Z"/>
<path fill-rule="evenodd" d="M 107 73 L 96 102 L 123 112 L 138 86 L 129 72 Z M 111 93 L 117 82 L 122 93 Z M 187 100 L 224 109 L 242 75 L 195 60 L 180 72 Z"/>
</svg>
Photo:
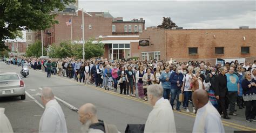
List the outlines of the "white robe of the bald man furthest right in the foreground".
<svg viewBox="0 0 256 133">
<path fill-rule="evenodd" d="M 225 132 L 220 114 L 209 101 L 197 110 L 193 132 Z"/>
</svg>

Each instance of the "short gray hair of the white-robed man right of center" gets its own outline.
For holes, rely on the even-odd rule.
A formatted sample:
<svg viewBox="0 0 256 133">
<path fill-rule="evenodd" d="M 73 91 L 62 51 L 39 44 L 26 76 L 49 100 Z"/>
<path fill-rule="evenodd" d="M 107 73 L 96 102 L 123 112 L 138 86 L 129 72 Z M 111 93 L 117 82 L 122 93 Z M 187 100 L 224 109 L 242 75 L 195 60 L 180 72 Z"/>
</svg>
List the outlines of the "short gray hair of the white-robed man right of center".
<svg viewBox="0 0 256 133">
<path fill-rule="evenodd" d="M 153 97 L 161 98 L 163 97 L 164 89 L 159 84 L 153 84 L 147 87 L 147 93 L 152 94 Z"/>
</svg>

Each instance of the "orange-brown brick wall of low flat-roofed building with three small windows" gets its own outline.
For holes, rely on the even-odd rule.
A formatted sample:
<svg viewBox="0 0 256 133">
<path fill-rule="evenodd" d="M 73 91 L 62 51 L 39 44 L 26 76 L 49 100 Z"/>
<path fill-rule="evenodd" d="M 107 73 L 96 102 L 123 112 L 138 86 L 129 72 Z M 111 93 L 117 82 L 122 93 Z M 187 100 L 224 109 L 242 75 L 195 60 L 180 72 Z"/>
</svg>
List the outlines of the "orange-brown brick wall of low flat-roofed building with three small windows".
<svg viewBox="0 0 256 133">
<path fill-rule="evenodd" d="M 256 57 L 256 29 L 189 29 L 165 32 L 169 58 L 182 60 Z M 250 47 L 250 54 L 241 54 L 242 46 Z M 198 47 L 198 54 L 188 55 L 188 47 Z M 215 47 L 224 47 L 224 54 L 215 54 Z"/>
</svg>

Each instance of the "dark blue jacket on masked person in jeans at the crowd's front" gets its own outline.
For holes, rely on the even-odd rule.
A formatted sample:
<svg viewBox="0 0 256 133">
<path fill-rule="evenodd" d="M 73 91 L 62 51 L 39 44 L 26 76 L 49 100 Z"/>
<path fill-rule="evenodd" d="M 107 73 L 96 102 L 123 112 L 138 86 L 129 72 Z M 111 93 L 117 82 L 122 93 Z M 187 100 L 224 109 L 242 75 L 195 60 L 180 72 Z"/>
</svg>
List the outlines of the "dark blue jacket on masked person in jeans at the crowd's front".
<svg viewBox="0 0 256 133">
<path fill-rule="evenodd" d="M 171 89 L 180 89 L 182 86 L 183 73 L 172 72 L 169 78 L 171 83 Z M 177 81 L 179 81 L 179 87 L 177 85 Z"/>
</svg>

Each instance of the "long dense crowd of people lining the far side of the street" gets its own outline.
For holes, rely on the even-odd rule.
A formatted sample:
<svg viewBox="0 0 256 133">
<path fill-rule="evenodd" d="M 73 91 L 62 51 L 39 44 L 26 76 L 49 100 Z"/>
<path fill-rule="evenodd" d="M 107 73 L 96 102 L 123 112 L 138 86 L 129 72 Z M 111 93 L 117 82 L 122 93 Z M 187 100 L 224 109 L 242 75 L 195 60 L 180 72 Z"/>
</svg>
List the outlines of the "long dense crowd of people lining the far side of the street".
<svg viewBox="0 0 256 133">
<path fill-rule="evenodd" d="M 192 94 L 196 90 L 206 90 L 212 105 L 224 119 L 228 115 L 238 115 L 237 109 L 245 108 L 247 122 L 256 121 L 256 60 L 250 62 L 226 62 L 211 65 L 209 62 L 163 62 L 157 60 L 75 60 L 73 58 L 5 58 L 6 64 L 28 64 L 35 70 L 51 75 L 64 76 L 85 84 L 95 84 L 105 90 L 118 91 L 127 97 L 147 101 L 147 87 L 159 84 L 163 87 L 164 99 L 170 100 L 174 109 L 196 113 Z M 184 100 L 179 101 L 180 94 Z M 192 108 L 188 105 L 192 103 Z M 182 105 L 181 105 L 182 104 Z M 229 113 L 227 114 L 227 109 Z M 242 115 L 242 114 L 240 114 Z"/>
</svg>

